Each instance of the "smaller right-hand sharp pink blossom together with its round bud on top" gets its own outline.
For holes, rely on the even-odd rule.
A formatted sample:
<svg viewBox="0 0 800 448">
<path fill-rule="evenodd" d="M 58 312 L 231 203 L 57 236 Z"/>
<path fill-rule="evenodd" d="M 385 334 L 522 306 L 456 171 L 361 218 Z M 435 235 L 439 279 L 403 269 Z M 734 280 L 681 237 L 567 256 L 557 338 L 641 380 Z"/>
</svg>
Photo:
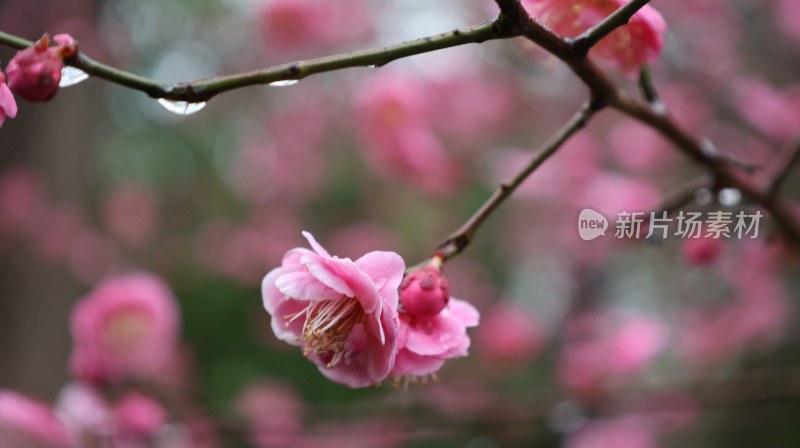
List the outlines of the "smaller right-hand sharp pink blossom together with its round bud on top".
<svg viewBox="0 0 800 448">
<path fill-rule="evenodd" d="M 467 328 L 478 325 L 480 313 L 469 303 L 450 297 L 449 283 L 437 265 L 409 274 L 401 286 L 400 300 L 393 377 L 424 378 L 436 373 L 448 359 L 467 355 Z"/>
</svg>

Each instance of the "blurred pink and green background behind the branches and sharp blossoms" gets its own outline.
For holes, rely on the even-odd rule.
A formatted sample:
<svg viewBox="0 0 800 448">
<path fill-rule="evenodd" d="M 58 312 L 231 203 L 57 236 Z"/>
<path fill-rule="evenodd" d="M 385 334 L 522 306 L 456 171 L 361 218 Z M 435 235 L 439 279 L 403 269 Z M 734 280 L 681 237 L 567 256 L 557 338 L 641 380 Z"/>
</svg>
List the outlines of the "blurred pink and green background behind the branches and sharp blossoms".
<svg viewBox="0 0 800 448">
<path fill-rule="evenodd" d="M 653 5 L 669 26 L 653 64 L 663 100 L 769 179 L 800 133 L 800 5 Z M 0 29 L 68 32 L 96 59 L 177 82 L 496 12 L 456 0 L 3 0 Z M 13 54 L 0 48 L 3 64 Z M 752 241 L 578 240 L 581 208 L 649 211 L 703 174 L 611 111 L 448 263 L 482 324 L 438 382 L 350 390 L 272 335 L 259 283 L 305 245 L 301 230 L 340 256 L 422 261 L 586 94 L 514 40 L 242 89 L 190 116 L 96 79 L 20 103 L 0 131 L 0 387 L 52 402 L 70 381 L 73 304 L 108 275 L 149 271 L 179 300 L 183 393 L 221 446 L 253 442 L 253 406 L 340 446 L 800 443 L 797 258 L 769 220 Z M 408 132 L 387 143 L 375 129 Z M 783 197 L 798 188 L 791 177 Z M 722 202 L 702 191 L 689 208 L 755 210 Z"/>
</svg>

